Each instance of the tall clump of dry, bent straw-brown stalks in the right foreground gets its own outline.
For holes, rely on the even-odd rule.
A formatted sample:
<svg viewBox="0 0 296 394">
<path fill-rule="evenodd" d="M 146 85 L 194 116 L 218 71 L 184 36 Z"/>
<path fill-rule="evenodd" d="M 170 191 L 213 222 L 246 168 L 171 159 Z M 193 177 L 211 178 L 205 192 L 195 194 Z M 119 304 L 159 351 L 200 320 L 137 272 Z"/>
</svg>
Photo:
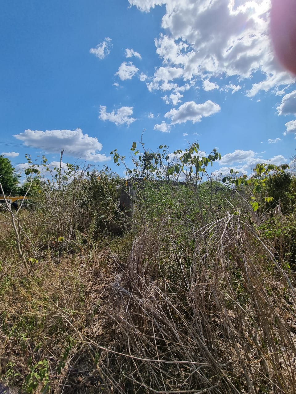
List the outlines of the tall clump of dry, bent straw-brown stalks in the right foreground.
<svg viewBox="0 0 296 394">
<path fill-rule="evenodd" d="M 118 392 L 294 393 L 291 273 L 239 215 L 191 237 L 190 255 L 163 221 L 133 242 L 113 286 L 116 340 L 108 358 L 115 370 L 102 360 L 105 379 L 112 387 L 111 375 L 124 377 Z M 166 262 L 163 242 L 172 251 Z M 165 264 L 174 264 L 175 280 L 162 275 Z"/>
</svg>

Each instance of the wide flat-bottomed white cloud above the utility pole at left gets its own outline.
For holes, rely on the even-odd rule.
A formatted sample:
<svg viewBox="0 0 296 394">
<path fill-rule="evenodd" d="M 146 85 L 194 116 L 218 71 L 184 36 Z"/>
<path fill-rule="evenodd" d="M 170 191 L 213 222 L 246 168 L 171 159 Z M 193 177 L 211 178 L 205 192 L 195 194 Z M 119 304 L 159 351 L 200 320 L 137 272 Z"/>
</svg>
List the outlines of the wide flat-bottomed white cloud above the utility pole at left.
<svg viewBox="0 0 296 394">
<path fill-rule="evenodd" d="M 24 145 L 34 146 L 47 151 L 65 149 L 69 156 L 85 158 L 94 162 L 105 162 L 110 157 L 97 153 L 102 144 L 96 137 L 83 134 L 81 128 L 76 130 L 25 130 L 13 137 L 23 141 Z"/>
</svg>

